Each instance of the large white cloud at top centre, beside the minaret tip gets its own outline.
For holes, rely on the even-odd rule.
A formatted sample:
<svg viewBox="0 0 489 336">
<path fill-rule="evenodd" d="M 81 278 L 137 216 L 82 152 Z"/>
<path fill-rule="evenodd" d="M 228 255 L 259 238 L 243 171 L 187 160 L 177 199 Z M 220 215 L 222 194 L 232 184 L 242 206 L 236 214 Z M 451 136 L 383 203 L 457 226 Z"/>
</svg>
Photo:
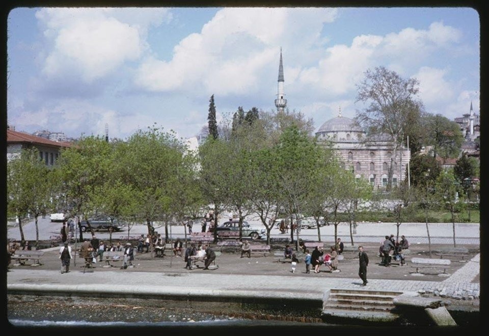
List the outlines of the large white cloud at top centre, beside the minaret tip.
<svg viewBox="0 0 489 336">
<path fill-rule="evenodd" d="M 146 59 L 134 78 L 150 91 L 186 88 L 208 95 L 261 90 L 265 67 L 276 66 L 278 48 L 302 54 L 317 43 L 334 9 L 226 8 L 218 11 L 199 34 L 174 48 L 169 62 Z M 285 45 L 284 45 L 285 44 Z M 306 48 L 307 47 L 307 48 Z"/>
</svg>

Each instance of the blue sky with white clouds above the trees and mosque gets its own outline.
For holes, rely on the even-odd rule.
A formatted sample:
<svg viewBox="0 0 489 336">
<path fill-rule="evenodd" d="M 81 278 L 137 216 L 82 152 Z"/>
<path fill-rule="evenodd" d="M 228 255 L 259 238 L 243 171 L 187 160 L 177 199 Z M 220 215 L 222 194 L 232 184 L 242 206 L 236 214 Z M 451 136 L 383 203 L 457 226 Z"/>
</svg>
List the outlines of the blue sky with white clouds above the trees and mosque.
<svg viewBox="0 0 489 336">
<path fill-rule="evenodd" d="M 282 50 L 290 111 L 315 130 L 354 118 L 365 71 L 419 80 L 425 110 L 479 114 L 480 21 L 469 7 L 15 8 L 7 122 L 18 131 L 189 138 L 239 106 L 276 110 Z"/>
</svg>

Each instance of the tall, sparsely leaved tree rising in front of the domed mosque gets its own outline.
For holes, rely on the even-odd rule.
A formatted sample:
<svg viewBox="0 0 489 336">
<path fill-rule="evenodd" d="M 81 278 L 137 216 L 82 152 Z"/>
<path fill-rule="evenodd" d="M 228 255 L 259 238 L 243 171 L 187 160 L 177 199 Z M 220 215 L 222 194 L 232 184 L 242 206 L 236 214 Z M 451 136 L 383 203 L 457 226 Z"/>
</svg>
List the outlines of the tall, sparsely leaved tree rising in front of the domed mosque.
<svg viewBox="0 0 489 336">
<path fill-rule="evenodd" d="M 357 111 L 357 122 L 366 128 L 367 135 L 387 134 L 392 141 L 387 190 L 391 190 L 394 160 L 405 141 L 409 123 L 419 118 L 422 103 L 415 100 L 419 89 L 417 79 L 403 79 L 384 67 L 367 70 L 365 78 L 357 85 L 356 101 L 368 103 Z"/>
</svg>

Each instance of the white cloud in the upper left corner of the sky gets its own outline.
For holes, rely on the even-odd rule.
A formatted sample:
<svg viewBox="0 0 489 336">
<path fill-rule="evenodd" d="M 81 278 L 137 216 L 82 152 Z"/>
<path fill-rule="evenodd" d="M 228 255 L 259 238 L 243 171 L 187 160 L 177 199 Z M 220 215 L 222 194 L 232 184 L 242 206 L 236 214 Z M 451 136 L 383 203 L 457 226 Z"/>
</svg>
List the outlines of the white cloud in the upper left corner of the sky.
<svg viewBox="0 0 489 336">
<path fill-rule="evenodd" d="M 144 40 L 148 26 L 159 25 L 167 12 L 153 9 L 41 9 L 36 17 L 46 26 L 44 36 L 48 44 L 53 44 L 43 73 L 48 77 L 79 75 L 88 83 L 110 74 L 124 62 L 141 57 L 148 49 Z"/>
</svg>

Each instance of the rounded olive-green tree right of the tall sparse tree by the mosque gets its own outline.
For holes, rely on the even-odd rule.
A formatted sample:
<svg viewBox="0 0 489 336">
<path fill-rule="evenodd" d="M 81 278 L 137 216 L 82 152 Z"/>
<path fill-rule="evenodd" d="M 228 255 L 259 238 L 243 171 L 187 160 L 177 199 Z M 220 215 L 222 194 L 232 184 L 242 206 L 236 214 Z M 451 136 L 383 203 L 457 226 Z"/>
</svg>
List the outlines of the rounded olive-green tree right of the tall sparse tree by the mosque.
<svg viewBox="0 0 489 336">
<path fill-rule="evenodd" d="M 424 127 L 424 144 L 433 146 L 433 156 L 458 157 L 464 136 L 454 121 L 442 115 L 428 115 Z"/>
</svg>

